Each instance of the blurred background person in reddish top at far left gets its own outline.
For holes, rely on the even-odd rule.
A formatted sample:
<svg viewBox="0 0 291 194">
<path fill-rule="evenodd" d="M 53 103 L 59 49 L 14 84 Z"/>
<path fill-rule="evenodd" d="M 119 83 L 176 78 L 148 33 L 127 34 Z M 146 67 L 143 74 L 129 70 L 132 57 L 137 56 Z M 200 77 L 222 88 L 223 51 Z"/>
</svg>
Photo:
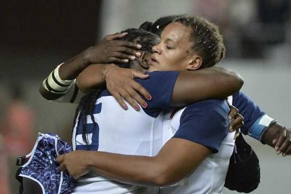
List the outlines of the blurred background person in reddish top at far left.
<svg viewBox="0 0 291 194">
<path fill-rule="evenodd" d="M 34 112 L 26 105 L 22 88 L 19 84 L 10 87 L 11 101 L 3 121 L 3 149 L 9 161 L 9 185 L 13 193 L 18 188 L 14 177 L 17 170 L 16 157 L 29 153 L 34 144 Z"/>
</svg>

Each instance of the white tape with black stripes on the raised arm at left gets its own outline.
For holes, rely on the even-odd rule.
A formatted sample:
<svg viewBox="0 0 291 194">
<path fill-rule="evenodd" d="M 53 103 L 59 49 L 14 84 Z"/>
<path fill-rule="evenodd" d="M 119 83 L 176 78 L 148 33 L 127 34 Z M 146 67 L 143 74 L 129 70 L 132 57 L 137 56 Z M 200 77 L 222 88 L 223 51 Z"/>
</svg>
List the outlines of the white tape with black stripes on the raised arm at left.
<svg viewBox="0 0 291 194">
<path fill-rule="evenodd" d="M 62 64 L 61 64 L 62 65 Z M 46 90 L 55 93 L 55 94 L 65 94 L 66 91 L 70 88 L 74 80 L 64 81 L 59 76 L 59 67 L 55 68 L 48 76 L 46 80 L 43 81 L 43 86 Z"/>
</svg>

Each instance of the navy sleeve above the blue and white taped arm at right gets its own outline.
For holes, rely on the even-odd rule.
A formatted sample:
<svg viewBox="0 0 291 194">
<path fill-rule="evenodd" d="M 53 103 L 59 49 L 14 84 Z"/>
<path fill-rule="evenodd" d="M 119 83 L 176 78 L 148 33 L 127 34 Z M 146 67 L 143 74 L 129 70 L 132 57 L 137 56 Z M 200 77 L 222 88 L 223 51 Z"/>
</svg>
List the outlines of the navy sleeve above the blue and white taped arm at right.
<svg viewBox="0 0 291 194">
<path fill-rule="evenodd" d="M 248 134 L 248 130 L 257 119 L 265 114 L 253 100 L 241 91 L 233 95 L 232 105 L 235 106 L 243 116 L 244 126 L 242 128 L 242 133 L 245 135 Z"/>
</svg>

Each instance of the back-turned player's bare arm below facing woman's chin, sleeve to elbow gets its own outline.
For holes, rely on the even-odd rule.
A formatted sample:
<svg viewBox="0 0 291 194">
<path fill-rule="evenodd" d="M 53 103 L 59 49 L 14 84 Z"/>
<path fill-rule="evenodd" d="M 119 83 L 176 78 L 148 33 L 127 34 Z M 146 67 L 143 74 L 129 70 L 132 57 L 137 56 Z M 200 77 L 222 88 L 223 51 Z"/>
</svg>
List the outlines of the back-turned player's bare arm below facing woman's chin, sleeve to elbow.
<svg viewBox="0 0 291 194">
<path fill-rule="evenodd" d="M 173 91 L 172 105 L 226 98 L 239 91 L 242 85 L 243 79 L 239 74 L 222 67 L 180 72 Z"/>
</svg>

